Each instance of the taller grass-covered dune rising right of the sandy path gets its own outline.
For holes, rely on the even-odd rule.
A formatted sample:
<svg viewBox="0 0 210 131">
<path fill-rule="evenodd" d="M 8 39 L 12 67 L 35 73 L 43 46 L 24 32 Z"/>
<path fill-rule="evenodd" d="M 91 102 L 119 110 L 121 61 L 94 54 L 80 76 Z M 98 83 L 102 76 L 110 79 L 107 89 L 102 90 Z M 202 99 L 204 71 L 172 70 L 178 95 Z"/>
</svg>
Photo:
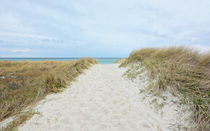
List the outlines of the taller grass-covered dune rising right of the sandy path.
<svg viewBox="0 0 210 131">
<path fill-rule="evenodd" d="M 137 62 L 157 79 L 155 88 L 176 88 L 185 103 L 192 103 L 201 130 L 210 128 L 210 54 L 184 47 L 144 48 L 133 51 L 121 66 Z"/>
</svg>

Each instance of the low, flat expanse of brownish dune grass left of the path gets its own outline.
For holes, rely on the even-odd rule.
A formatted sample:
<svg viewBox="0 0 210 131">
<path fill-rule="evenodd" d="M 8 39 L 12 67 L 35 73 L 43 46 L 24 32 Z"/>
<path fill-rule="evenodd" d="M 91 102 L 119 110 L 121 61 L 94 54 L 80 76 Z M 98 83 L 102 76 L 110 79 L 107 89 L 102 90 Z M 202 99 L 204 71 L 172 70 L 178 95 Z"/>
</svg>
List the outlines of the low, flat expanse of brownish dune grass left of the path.
<svg viewBox="0 0 210 131">
<path fill-rule="evenodd" d="M 0 121 L 37 102 L 49 93 L 59 92 L 95 59 L 76 61 L 0 61 Z"/>
</svg>

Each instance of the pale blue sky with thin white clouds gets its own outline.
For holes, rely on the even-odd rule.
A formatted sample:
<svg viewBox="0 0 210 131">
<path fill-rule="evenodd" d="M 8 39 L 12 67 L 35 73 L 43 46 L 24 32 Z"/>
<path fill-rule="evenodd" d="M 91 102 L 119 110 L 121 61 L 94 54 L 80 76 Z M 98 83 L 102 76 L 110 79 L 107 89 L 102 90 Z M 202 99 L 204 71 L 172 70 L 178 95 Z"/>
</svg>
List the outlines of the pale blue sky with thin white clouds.
<svg viewBox="0 0 210 131">
<path fill-rule="evenodd" d="M 210 0 L 0 0 L 0 57 L 210 49 Z"/>
</svg>

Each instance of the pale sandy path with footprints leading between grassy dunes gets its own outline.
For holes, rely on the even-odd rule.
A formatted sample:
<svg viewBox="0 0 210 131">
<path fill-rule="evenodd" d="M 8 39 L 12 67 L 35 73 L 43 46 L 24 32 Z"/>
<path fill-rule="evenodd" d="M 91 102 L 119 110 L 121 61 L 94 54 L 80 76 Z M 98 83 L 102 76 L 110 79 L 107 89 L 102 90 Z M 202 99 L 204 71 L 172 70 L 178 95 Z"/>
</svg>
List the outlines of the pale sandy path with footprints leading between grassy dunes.
<svg viewBox="0 0 210 131">
<path fill-rule="evenodd" d="M 20 131 L 165 130 L 160 116 L 142 103 L 139 85 L 116 64 L 94 65 L 70 88 L 42 100 Z"/>
</svg>

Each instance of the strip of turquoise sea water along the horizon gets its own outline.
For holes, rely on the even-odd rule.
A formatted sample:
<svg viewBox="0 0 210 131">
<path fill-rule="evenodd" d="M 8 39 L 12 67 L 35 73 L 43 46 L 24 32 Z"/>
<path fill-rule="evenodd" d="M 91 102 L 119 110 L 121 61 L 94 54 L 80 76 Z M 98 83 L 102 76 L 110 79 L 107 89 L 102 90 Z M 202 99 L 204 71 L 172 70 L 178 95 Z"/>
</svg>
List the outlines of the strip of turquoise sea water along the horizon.
<svg viewBox="0 0 210 131">
<path fill-rule="evenodd" d="M 0 58 L 0 61 L 42 61 L 42 60 L 56 60 L 56 61 L 67 61 L 67 60 L 78 60 L 79 58 Z M 99 64 L 113 64 L 119 58 L 96 58 Z"/>
</svg>

